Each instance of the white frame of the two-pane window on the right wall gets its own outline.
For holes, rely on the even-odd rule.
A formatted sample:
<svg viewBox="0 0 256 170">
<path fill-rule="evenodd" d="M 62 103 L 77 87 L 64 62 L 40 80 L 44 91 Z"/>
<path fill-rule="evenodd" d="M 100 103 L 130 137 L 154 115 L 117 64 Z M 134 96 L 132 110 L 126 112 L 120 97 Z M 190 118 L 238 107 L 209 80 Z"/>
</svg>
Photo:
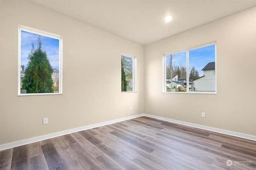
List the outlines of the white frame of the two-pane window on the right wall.
<svg viewBox="0 0 256 170">
<path fill-rule="evenodd" d="M 186 51 L 186 82 L 189 83 L 189 51 L 191 50 L 194 50 L 194 49 L 200 49 L 200 48 L 203 48 L 203 47 L 207 47 L 207 46 L 210 46 L 210 45 L 215 45 L 215 91 L 214 92 L 198 92 L 198 91 L 189 91 L 187 90 L 186 92 L 167 92 L 166 91 L 166 56 L 167 55 L 170 55 L 170 54 L 174 54 L 174 53 L 181 53 L 181 52 L 184 52 Z M 188 48 L 188 49 L 184 49 L 184 50 L 180 50 L 180 51 L 174 51 L 174 52 L 171 52 L 171 53 L 166 53 L 166 54 L 163 54 L 163 57 L 162 57 L 162 92 L 163 93 L 175 93 L 175 94 L 217 94 L 217 60 L 216 60 L 216 48 L 217 48 L 217 44 L 216 44 L 216 41 L 214 42 L 211 42 L 211 43 L 207 43 L 207 44 L 204 44 L 204 45 L 200 45 L 200 46 L 196 46 L 196 47 L 192 47 L 192 48 Z M 188 85 L 189 87 L 189 85 Z M 189 89 L 189 88 L 188 88 Z"/>
</svg>

